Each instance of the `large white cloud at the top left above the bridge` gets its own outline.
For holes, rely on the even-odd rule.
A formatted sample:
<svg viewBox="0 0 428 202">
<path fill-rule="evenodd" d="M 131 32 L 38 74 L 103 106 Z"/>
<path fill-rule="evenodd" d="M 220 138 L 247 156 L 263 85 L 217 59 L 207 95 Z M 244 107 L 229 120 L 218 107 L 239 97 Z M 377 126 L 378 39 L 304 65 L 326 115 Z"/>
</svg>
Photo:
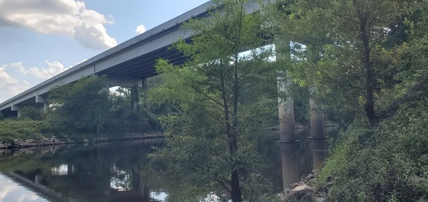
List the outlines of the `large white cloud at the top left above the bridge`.
<svg viewBox="0 0 428 202">
<path fill-rule="evenodd" d="M 0 1 L 0 27 L 19 26 L 39 33 L 76 38 L 86 48 L 106 49 L 117 45 L 104 24 L 112 17 L 87 9 L 83 1 Z"/>
</svg>

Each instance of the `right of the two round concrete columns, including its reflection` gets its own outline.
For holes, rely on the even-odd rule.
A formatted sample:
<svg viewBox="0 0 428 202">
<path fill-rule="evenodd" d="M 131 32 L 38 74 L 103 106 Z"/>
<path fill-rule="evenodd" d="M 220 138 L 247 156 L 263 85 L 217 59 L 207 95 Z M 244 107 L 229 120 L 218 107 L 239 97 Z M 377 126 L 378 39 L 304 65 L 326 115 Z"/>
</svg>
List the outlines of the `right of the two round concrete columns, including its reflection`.
<svg viewBox="0 0 428 202">
<path fill-rule="evenodd" d="M 312 156 L 314 160 L 314 170 L 318 171 L 322 167 L 322 162 L 327 158 L 328 146 L 327 138 L 324 132 L 324 115 L 320 106 L 312 97 L 315 93 L 315 87 L 310 87 L 310 131 L 312 139 Z"/>
</svg>

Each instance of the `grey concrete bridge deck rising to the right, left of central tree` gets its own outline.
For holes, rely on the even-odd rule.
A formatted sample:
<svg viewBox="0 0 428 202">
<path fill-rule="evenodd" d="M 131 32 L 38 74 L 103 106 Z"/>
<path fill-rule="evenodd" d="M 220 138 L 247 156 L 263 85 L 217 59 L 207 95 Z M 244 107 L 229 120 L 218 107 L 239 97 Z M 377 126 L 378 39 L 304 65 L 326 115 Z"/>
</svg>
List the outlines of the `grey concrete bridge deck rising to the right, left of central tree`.
<svg viewBox="0 0 428 202">
<path fill-rule="evenodd" d="M 33 105 L 46 107 L 47 92 L 52 87 L 72 83 L 90 75 L 107 75 L 109 87 L 122 86 L 141 87 L 146 78 L 156 75 L 154 65 L 156 59 L 165 58 L 171 63 L 180 64 L 185 61 L 182 53 L 168 50 L 178 38 L 189 39 L 191 31 L 180 30 L 180 25 L 190 18 L 208 16 L 207 9 L 211 1 L 177 16 L 156 28 L 142 33 L 105 52 L 40 83 L 29 90 L 21 92 L 0 104 L 0 111 L 9 117 L 20 115 L 23 107 Z"/>
</svg>

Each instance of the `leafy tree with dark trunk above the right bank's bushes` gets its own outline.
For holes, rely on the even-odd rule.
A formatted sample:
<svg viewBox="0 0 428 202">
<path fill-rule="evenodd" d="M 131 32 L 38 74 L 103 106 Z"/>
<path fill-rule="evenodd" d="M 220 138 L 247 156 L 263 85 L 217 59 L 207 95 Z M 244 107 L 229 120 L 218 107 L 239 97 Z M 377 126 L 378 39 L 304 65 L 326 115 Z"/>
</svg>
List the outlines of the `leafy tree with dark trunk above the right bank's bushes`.
<svg viewBox="0 0 428 202">
<path fill-rule="evenodd" d="M 363 107 L 374 125 L 382 90 L 399 83 L 405 69 L 403 21 L 417 1 L 280 1 L 275 4 L 279 38 L 296 41 L 295 80 L 317 87 L 326 102 L 352 112 Z M 391 46 L 391 39 L 392 46 Z M 399 40 L 397 40 L 399 39 Z M 304 44 L 305 46 L 301 46 Z M 403 62 L 404 61 L 404 62 Z M 337 96 L 344 95 L 344 96 Z M 340 104 L 337 102 L 340 101 Z M 355 112 L 355 111 L 354 111 Z"/>
</svg>

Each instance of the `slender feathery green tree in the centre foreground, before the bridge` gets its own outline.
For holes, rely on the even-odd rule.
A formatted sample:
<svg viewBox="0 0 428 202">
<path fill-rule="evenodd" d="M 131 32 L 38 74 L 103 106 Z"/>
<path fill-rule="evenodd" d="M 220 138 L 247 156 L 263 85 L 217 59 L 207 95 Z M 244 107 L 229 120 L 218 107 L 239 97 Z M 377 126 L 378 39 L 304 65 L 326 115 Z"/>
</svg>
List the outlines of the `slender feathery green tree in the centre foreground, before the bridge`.
<svg viewBox="0 0 428 202">
<path fill-rule="evenodd" d="M 163 84 L 149 92 L 153 102 L 175 104 L 161 117 L 168 144 L 153 156 L 168 162 L 180 183 L 234 202 L 263 193 L 263 159 L 252 141 L 277 106 L 272 50 L 258 48 L 265 44 L 265 18 L 247 14 L 250 4 L 256 2 L 214 1 L 210 17 L 185 23 L 195 35 L 173 48 L 190 59 L 158 60 Z M 240 54 L 245 50 L 252 51 Z"/>
</svg>

